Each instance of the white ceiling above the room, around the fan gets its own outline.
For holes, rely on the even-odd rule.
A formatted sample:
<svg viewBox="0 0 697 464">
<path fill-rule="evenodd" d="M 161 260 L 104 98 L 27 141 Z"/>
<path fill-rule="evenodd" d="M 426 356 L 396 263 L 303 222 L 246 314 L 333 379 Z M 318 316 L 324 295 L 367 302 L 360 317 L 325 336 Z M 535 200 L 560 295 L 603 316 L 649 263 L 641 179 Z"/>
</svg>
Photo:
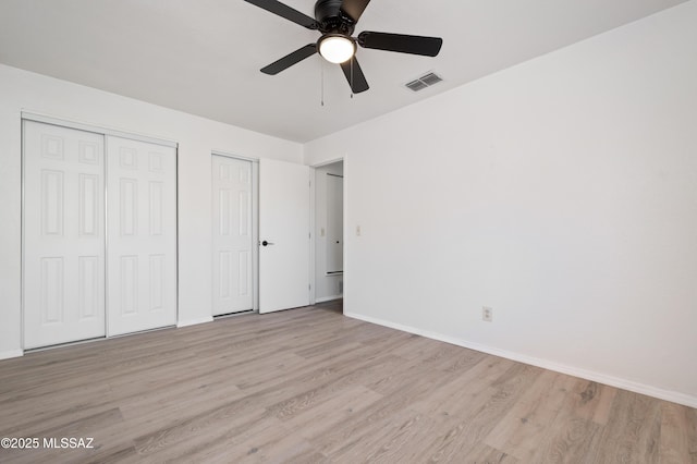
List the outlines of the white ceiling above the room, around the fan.
<svg viewBox="0 0 697 464">
<path fill-rule="evenodd" d="M 440 36 L 443 48 L 437 58 L 359 49 L 370 89 L 353 98 L 319 56 L 261 74 L 319 33 L 243 0 L 0 0 L 0 62 L 308 142 L 684 1 L 372 0 L 356 35 Z M 285 3 L 313 15 L 313 0 Z M 445 82 L 403 87 L 427 71 Z"/>
</svg>

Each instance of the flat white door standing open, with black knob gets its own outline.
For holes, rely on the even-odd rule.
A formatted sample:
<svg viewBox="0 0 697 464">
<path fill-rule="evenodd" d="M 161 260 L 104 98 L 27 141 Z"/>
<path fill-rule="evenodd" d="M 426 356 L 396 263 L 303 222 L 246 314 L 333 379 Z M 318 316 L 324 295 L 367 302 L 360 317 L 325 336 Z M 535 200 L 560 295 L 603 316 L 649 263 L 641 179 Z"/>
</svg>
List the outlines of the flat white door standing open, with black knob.
<svg viewBox="0 0 697 464">
<path fill-rule="evenodd" d="M 259 161 L 259 313 L 309 305 L 309 173 Z"/>
</svg>

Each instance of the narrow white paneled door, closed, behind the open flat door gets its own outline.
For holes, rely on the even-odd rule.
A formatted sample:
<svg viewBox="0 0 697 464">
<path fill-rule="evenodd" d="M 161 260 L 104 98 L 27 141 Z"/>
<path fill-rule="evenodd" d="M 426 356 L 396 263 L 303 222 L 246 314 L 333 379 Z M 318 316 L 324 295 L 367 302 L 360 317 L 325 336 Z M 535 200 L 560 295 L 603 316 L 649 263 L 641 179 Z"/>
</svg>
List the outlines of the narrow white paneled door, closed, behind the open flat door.
<svg viewBox="0 0 697 464">
<path fill-rule="evenodd" d="M 253 309 L 252 161 L 213 155 L 213 316 Z"/>
</svg>

